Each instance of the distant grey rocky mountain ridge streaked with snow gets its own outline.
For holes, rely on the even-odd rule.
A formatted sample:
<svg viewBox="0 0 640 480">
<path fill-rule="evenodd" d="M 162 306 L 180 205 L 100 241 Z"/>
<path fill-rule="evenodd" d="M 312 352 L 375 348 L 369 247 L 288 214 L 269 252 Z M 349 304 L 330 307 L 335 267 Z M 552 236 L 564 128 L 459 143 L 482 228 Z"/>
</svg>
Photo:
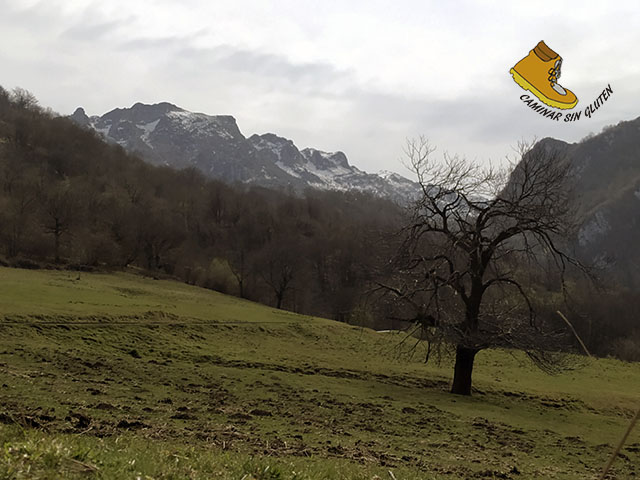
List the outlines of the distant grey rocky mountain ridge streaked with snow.
<svg viewBox="0 0 640 480">
<path fill-rule="evenodd" d="M 231 116 L 189 112 L 170 103 L 136 103 L 101 117 L 89 117 L 78 108 L 71 119 L 152 164 L 196 167 L 228 183 L 296 192 L 359 190 L 399 203 L 418 191 L 416 183 L 397 173 L 372 174 L 350 165 L 342 152 L 299 150 L 273 133 L 246 138 Z"/>
</svg>

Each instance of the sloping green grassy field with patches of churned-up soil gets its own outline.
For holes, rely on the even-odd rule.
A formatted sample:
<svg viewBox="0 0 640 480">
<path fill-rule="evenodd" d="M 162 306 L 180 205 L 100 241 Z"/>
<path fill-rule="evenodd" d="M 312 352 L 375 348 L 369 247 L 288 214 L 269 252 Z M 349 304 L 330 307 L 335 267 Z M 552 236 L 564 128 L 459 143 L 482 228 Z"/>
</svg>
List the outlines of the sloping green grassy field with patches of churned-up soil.
<svg viewBox="0 0 640 480">
<path fill-rule="evenodd" d="M 597 478 L 640 366 L 451 365 L 380 334 L 125 273 L 0 268 L 0 479 Z M 407 345 L 407 343 L 405 343 Z M 634 431 L 610 478 L 640 475 Z"/>
</svg>

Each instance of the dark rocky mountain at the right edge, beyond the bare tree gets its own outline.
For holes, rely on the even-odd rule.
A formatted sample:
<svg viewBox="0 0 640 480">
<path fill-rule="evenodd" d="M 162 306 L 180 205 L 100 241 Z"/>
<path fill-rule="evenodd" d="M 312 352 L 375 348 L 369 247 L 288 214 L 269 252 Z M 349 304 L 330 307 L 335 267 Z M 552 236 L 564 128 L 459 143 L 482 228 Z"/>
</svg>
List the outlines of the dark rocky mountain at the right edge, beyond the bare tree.
<svg viewBox="0 0 640 480">
<path fill-rule="evenodd" d="M 546 138 L 538 148 L 564 151 L 571 159 L 578 196 L 579 258 L 640 288 L 640 118 L 605 128 L 569 144 Z"/>
</svg>

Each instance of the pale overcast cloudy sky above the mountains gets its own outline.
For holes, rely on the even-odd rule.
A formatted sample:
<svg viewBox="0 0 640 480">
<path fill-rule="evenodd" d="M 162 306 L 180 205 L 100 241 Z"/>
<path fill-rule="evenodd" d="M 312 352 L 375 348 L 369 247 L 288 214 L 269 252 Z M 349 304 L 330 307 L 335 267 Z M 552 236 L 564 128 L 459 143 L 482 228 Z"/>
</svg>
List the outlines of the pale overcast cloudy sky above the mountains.
<svg viewBox="0 0 640 480">
<path fill-rule="evenodd" d="M 553 121 L 509 69 L 540 41 L 591 116 Z M 171 102 L 245 136 L 405 175 L 407 139 L 493 165 L 640 116 L 640 5 L 426 0 L 0 0 L 0 85 L 60 114 Z M 564 118 L 564 117 L 563 117 Z"/>
</svg>

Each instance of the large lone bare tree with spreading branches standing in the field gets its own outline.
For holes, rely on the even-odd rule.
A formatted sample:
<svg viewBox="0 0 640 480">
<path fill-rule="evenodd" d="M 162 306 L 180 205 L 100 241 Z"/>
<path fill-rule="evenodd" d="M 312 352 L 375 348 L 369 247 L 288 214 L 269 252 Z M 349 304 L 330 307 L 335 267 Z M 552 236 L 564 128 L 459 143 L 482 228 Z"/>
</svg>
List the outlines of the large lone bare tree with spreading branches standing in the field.
<svg viewBox="0 0 640 480">
<path fill-rule="evenodd" d="M 438 162 L 424 138 L 406 149 L 421 192 L 396 274 L 381 287 L 405 318 L 456 346 L 452 393 L 471 394 L 474 359 L 485 348 L 515 347 L 554 367 L 546 352 L 560 334 L 536 317 L 525 265 L 550 264 L 559 278 L 578 265 L 560 244 L 571 228 L 570 165 L 558 151 L 519 147 L 508 170 L 446 154 Z"/>
</svg>

